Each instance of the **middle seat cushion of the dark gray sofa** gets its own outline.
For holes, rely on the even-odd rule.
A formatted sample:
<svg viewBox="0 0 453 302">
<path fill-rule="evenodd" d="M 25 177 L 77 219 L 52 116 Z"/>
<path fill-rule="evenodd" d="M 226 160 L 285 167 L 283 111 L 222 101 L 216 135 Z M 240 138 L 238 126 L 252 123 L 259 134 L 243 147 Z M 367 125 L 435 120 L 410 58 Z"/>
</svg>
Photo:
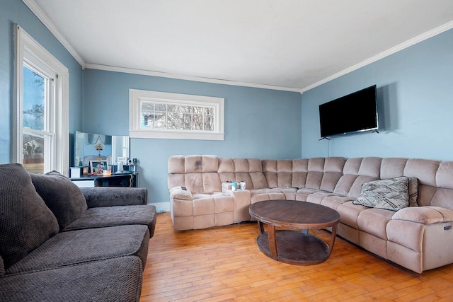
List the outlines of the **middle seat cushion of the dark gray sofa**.
<svg viewBox="0 0 453 302">
<path fill-rule="evenodd" d="M 129 255 L 138 256 L 144 267 L 148 245 L 147 226 L 113 226 L 62 232 L 6 269 L 6 275 Z"/>
</svg>

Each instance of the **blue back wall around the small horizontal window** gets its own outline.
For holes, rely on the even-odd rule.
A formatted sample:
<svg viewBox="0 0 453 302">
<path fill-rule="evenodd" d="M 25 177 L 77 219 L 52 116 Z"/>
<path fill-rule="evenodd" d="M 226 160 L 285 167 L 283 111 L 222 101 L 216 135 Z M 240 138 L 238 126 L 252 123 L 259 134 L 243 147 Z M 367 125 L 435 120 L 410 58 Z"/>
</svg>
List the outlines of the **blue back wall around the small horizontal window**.
<svg viewBox="0 0 453 302">
<path fill-rule="evenodd" d="M 149 190 L 150 203 L 169 200 L 167 161 L 173 155 L 300 157 L 300 93 L 96 69 L 84 70 L 84 132 L 128 135 L 130 88 L 225 99 L 224 141 L 131 139 L 130 157 L 139 161 L 139 185 Z"/>
</svg>

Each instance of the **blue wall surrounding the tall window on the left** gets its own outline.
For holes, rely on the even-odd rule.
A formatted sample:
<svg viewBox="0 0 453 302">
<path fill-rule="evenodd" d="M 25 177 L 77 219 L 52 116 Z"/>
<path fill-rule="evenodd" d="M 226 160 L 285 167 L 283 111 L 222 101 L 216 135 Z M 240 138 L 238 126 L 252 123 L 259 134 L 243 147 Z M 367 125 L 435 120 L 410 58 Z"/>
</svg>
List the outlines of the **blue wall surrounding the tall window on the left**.
<svg viewBox="0 0 453 302">
<path fill-rule="evenodd" d="M 0 163 L 11 161 L 12 110 L 14 105 L 14 24 L 20 25 L 59 62 L 69 69 L 69 129 L 82 128 L 82 70 L 79 63 L 21 0 L 1 0 L 0 4 Z M 69 134 L 68 134 L 69 135 Z M 71 159 L 72 160 L 72 159 Z"/>
</svg>

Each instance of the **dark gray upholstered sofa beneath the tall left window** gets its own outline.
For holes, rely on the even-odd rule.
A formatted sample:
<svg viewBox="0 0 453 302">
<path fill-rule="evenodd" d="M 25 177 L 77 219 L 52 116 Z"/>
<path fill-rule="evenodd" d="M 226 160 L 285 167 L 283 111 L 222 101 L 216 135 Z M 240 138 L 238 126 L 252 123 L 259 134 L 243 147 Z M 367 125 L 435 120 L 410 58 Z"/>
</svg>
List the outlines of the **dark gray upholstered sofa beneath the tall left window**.
<svg viewBox="0 0 453 302">
<path fill-rule="evenodd" d="M 0 165 L 0 301 L 139 301 L 155 226 L 144 188 Z"/>
</svg>

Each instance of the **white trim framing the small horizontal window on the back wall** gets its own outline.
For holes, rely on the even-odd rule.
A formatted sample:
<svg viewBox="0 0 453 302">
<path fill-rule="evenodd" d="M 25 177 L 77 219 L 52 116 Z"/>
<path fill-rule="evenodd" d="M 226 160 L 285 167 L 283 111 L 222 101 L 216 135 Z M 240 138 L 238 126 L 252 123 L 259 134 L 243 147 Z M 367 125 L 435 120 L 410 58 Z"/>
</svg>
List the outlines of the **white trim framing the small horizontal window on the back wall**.
<svg viewBox="0 0 453 302">
<path fill-rule="evenodd" d="M 141 102 L 192 103 L 193 105 L 214 105 L 214 132 L 194 130 L 149 129 L 141 127 Z M 129 90 L 129 137 L 142 139 L 206 139 L 224 140 L 224 98 L 158 91 Z"/>
</svg>

